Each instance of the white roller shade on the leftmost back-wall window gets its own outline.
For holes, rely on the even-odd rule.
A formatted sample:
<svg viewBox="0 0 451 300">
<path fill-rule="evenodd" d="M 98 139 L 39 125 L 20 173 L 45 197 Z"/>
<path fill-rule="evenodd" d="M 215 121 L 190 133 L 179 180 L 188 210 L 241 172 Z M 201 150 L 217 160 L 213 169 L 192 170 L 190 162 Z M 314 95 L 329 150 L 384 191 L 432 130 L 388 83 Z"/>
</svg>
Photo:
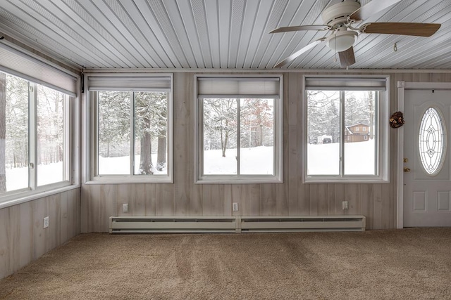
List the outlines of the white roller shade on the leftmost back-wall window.
<svg viewBox="0 0 451 300">
<path fill-rule="evenodd" d="M 171 77 L 88 77 L 89 91 L 171 91 Z"/>
</svg>

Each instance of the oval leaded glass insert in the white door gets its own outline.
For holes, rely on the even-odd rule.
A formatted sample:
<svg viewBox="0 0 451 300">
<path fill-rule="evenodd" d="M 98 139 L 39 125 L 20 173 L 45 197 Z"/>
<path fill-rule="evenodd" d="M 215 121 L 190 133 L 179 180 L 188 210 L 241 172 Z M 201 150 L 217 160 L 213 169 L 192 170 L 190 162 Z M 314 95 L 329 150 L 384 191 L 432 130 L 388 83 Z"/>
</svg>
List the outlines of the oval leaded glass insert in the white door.
<svg viewBox="0 0 451 300">
<path fill-rule="evenodd" d="M 445 127 L 440 112 L 429 107 L 421 118 L 419 155 L 426 173 L 438 174 L 445 158 Z"/>
</svg>

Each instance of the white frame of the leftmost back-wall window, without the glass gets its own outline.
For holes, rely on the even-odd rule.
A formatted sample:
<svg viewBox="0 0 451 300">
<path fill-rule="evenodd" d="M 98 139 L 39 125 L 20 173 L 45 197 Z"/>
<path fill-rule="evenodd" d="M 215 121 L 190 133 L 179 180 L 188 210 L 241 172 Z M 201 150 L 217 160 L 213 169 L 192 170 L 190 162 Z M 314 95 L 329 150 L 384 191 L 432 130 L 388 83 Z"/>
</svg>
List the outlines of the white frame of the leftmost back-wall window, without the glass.
<svg viewBox="0 0 451 300">
<path fill-rule="evenodd" d="M 89 89 L 89 79 L 97 79 L 100 77 L 111 79 L 115 82 L 121 81 L 132 81 L 133 78 L 137 79 L 149 79 L 157 80 L 159 78 L 169 78 L 171 81 L 170 91 L 168 93 L 168 112 L 167 112 L 167 131 L 166 131 L 166 143 L 167 143 L 167 174 L 97 174 L 97 100 L 93 98 L 94 91 L 88 91 Z M 123 79 L 123 80 L 121 80 Z M 109 184 L 109 183 L 173 183 L 173 74 L 172 73 L 154 73 L 154 74 L 131 74 L 131 73 L 111 73 L 111 72 L 87 72 L 85 73 L 85 86 L 87 91 L 85 91 L 86 105 L 83 107 L 83 118 L 87 124 L 85 129 L 85 148 L 83 151 L 86 153 L 85 162 L 82 163 L 82 182 L 85 184 Z M 107 90 L 105 90 L 107 91 Z M 133 89 L 124 86 L 121 91 L 138 92 L 138 91 L 149 91 L 152 92 L 152 88 L 140 90 Z M 154 90 L 158 91 L 158 90 Z M 134 98 L 131 97 L 130 100 L 134 102 Z M 131 105 L 133 106 L 133 105 Z M 134 114 L 130 115 L 130 126 L 135 126 L 133 124 Z M 132 137 L 130 137 L 132 139 Z M 132 141 L 130 141 L 132 143 Z M 131 147 L 131 145 L 130 145 Z M 131 166 L 130 166 L 131 167 Z M 131 172 L 130 172 L 131 173 Z"/>
</svg>

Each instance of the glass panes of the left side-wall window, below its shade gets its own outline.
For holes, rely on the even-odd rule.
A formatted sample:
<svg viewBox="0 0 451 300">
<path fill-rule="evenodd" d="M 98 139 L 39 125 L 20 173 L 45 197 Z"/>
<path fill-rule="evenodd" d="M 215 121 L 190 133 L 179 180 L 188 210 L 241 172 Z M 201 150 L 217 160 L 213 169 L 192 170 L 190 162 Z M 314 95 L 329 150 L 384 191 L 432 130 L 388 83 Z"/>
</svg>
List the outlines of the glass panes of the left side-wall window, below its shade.
<svg viewBox="0 0 451 300">
<path fill-rule="evenodd" d="M 0 197 L 68 184 L 69 96 L 0 72 Z"/>
</svg>

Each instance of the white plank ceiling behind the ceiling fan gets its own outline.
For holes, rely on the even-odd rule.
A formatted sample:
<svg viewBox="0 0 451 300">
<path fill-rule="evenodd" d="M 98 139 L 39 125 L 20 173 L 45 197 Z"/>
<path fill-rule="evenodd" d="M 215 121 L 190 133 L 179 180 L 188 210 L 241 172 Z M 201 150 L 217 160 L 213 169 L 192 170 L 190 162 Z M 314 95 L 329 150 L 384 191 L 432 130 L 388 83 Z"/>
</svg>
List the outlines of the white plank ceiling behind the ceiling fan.
<svg viewBox="0 0 451 300">
<path fill-rule="evenodd" d="M 87 69 L 272 69 L 326 32 L 268 32 L 322 24 L 323 9 L 338 1 L 1 0 L 0 37 Z M 360 34 L 354 44 L 357 63 L 350 68 L 451 68 L 451 0 L 402 0 L 364 21 L 442 27 L 428 38 Z M 286 67 L 340 69 L 340 62 L 322 43 Z"/>
</svg>

